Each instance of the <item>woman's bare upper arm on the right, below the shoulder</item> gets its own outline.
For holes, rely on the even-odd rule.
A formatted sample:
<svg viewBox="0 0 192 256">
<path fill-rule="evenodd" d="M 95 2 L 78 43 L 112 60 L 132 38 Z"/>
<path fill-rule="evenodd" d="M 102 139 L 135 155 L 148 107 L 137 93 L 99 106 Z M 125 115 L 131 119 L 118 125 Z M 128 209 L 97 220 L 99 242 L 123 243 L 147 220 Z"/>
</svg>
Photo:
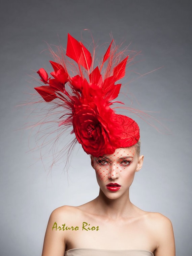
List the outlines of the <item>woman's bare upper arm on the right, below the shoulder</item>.
<svg viewBox="0 0 192 256">
<path fill-rule="evenodd" d="M 154 252 L 155 256 L 175 256 L 175 242 L 173 228 L 170 220 L 161 215 L 158 220 L 158 228 L 156 229 L 157 248 Z"/>
</svg>

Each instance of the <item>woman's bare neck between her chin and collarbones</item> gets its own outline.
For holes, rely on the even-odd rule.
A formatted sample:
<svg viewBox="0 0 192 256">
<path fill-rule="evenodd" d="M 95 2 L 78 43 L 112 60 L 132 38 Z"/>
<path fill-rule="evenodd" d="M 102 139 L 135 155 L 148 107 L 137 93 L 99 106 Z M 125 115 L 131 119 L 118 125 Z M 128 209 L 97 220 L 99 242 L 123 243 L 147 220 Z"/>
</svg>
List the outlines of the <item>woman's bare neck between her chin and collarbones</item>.
<svg viewBox="0 0 192 256">
<path fill-rule="evenodd" d="M 109 199 L 100 190 L 98 197 L 94 201 L 99 214 L 113 219 L 127 217 L 128 214 L 131 214 L 134 207 L 129 199 L 129 191 L 117 199 Z"/>
</svg>

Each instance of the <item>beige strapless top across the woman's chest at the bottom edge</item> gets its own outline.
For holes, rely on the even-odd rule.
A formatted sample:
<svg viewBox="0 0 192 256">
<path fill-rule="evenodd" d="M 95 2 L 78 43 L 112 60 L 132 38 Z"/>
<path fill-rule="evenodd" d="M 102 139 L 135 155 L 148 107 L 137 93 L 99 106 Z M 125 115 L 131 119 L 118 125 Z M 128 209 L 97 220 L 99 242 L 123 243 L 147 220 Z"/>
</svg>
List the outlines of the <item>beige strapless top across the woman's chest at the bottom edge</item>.
<svg viewBox="0 0 192 256">
<path fill-rule="evenodd" d="M 103 250 L 78 248 L 66 251 L 65 256 L 154 256 L 154 254 L 145 250 Z"/>
</svg>

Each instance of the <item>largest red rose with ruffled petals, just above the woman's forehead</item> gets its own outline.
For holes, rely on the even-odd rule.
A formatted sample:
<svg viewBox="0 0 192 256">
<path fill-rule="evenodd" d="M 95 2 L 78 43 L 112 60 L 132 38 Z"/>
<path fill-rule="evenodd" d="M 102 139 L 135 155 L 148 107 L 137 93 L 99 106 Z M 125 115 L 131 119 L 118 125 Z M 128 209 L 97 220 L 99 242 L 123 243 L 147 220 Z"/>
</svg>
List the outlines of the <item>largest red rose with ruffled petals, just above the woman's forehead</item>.
<svg viewBox="0 0 192 256">
<path fill-rule="evenodd" d="M 106 111 L 91 102 L 75 107 L 73 129 L 79 143 L 87 154 L 95 157 L 113 154 L 119 138 L 119 126 L 115 113 L 109 107 Z M 104 115 L 102 114 L 104 113 Z"/>
</svg>

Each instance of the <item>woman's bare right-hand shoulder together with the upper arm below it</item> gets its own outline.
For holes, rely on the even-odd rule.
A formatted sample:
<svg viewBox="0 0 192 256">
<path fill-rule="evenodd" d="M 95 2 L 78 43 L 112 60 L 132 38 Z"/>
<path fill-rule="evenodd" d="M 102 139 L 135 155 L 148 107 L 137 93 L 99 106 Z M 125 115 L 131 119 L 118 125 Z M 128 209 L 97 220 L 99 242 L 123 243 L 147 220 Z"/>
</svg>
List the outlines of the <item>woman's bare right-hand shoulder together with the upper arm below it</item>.
<svg viewBox="0 0 192 256">
<path fill-rule="evenodd" d="M 175 256 L 174 234 L 170 219 L 161 213 L 149 212 L 146 221 L 156 243 L 154 255 Z"/>
</svg>

